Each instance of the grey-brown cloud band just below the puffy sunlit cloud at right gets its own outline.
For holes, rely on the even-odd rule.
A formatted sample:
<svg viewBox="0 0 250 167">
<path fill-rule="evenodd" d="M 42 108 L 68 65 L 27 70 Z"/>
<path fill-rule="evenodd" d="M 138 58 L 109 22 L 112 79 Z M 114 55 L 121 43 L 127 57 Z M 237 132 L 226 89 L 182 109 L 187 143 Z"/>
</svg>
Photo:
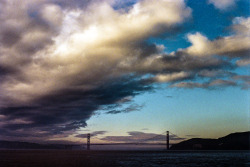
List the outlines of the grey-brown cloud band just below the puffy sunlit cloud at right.
<svg viewBox="0 0 250 167">
<path fill-rule="evenodd" d="M 147 61 L 151 61 L 150 64 Z M 133 64 L 130 70 L 141 73 L 173 73 L 173 72 L 198 72 L 201 70 L 233 69 L 233 65 L 228 60 L 216 57 L 192 57 L 181 52 L 176 55 L 162 55 L 157 59 L 140 59 L 137 64 Z"/>
</svg>

